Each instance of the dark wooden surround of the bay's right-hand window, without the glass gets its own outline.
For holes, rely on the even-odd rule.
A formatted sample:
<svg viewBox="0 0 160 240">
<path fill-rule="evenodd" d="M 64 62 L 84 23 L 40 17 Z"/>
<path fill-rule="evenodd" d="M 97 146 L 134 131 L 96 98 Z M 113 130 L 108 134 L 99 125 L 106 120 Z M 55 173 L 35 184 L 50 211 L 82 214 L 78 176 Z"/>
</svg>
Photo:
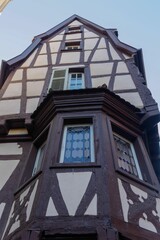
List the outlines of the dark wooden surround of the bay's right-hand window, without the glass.
<svg viewBox="0 0 160 240">
<path fill-rule="evenodd" d="M 134 146 L 138 164 L 141 170 L 142 178 L 136 177 L 130 173 L 127 173 L 123 169 L 120 169 L 118 166 L 117 161 L 117 153 L 116 153 L 116 146 L 114 142 L 113 133 L 120 135 L 122 138 L 131 142 Z M 128 129 L 127 127 L 123 126 L 122 124 L 118 124 L 117 121 L 111 120 L 111 132 L 110 138 L 112 143 L 112 151 L 113 151 L 113 158 L 114 158 L 114 167 L 115 170 L 120 173 L 122 176 L 127 178 L 133 179 L 134 181 L 140 182 L 143 185 L 147 185 L 148 187 L 156 190 L 157 189 L 157 180 L 155 179 L 155 173 L 153 167 L 150 163 L 150 159 L 144 145 L 143 140 L 141 139 L 141 134 L 132 132 L 132 130 Z M 143 171 L 142 171 L 143 170 Z"/>
</svg>

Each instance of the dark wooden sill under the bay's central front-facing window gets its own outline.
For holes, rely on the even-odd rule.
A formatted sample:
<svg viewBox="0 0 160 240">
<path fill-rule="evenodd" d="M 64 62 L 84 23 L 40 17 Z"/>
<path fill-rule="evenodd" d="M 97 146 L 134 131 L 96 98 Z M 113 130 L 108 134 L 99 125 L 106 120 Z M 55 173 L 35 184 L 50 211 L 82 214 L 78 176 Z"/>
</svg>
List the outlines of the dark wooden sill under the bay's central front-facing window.
<svg viewBox="0 0 160 240">
<path fill-rule="evenodd" d="M 57 163 L 55 166 L 51 166 L 50 169 L 57 168 L 100 168 L 101 165 L 96 163 Z"/>
</svg>

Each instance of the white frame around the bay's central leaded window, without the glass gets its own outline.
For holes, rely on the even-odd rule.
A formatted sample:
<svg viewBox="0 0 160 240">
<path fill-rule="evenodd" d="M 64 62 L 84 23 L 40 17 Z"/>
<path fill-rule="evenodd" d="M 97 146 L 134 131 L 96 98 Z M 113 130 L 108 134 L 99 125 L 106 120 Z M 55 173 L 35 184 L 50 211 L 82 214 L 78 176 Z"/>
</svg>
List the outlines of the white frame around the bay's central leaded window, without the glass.
<svg viewBox="0 0 160 240">
<path fill-rule="evenodd" d="M 67 128 L 69 127 L 90 127 L 90 154 L 91 154 L 91 161 L 89 162 L 64 162 L 64 153 L 65 153 L 65 146 L 66 146 L 66 136 L 67 136 Z M 90 164 L 95 163 L 95 145 L 94 145 L 94 129 L 93 129 L 93 123 L 84 123 L 84 124 L 66 124 L 63 128 L 62 133 L 62 141 L 61 141 L 61 147 L 60 147 L 60 157 L 59 157 L 59 163 L 60 164 Z"/>
</svg>

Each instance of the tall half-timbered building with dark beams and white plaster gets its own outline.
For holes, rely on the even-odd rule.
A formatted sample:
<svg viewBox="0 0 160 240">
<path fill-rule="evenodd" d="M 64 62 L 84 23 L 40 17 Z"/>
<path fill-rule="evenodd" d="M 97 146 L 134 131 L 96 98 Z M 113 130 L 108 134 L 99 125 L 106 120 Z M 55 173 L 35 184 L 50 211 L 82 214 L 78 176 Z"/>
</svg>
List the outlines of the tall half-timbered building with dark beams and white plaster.
<svg viewBox="0 0 160 240">
<path fill-rule="evenodd" d="M 0 239 L 160 239 L 141 50 L 73 15 L 2 61 L 0 86 Z"/>
</svg>

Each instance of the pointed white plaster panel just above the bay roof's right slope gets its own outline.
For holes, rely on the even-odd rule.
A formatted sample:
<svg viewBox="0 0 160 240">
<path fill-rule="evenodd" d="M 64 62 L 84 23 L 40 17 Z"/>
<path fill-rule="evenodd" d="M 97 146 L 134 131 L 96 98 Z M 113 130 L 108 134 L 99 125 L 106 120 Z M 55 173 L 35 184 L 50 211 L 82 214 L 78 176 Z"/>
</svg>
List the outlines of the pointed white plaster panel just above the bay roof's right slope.
<svg viewBox="0 0 160 240">
<path fill-rule="evenodd" d="M 127 102 L 130 102 L 138 108 L 143 108 L 143 102 L 139 96 L 138 92 L 132 93 L 117 93 L 121 98 L 125 99 Z"/>
</svg>

